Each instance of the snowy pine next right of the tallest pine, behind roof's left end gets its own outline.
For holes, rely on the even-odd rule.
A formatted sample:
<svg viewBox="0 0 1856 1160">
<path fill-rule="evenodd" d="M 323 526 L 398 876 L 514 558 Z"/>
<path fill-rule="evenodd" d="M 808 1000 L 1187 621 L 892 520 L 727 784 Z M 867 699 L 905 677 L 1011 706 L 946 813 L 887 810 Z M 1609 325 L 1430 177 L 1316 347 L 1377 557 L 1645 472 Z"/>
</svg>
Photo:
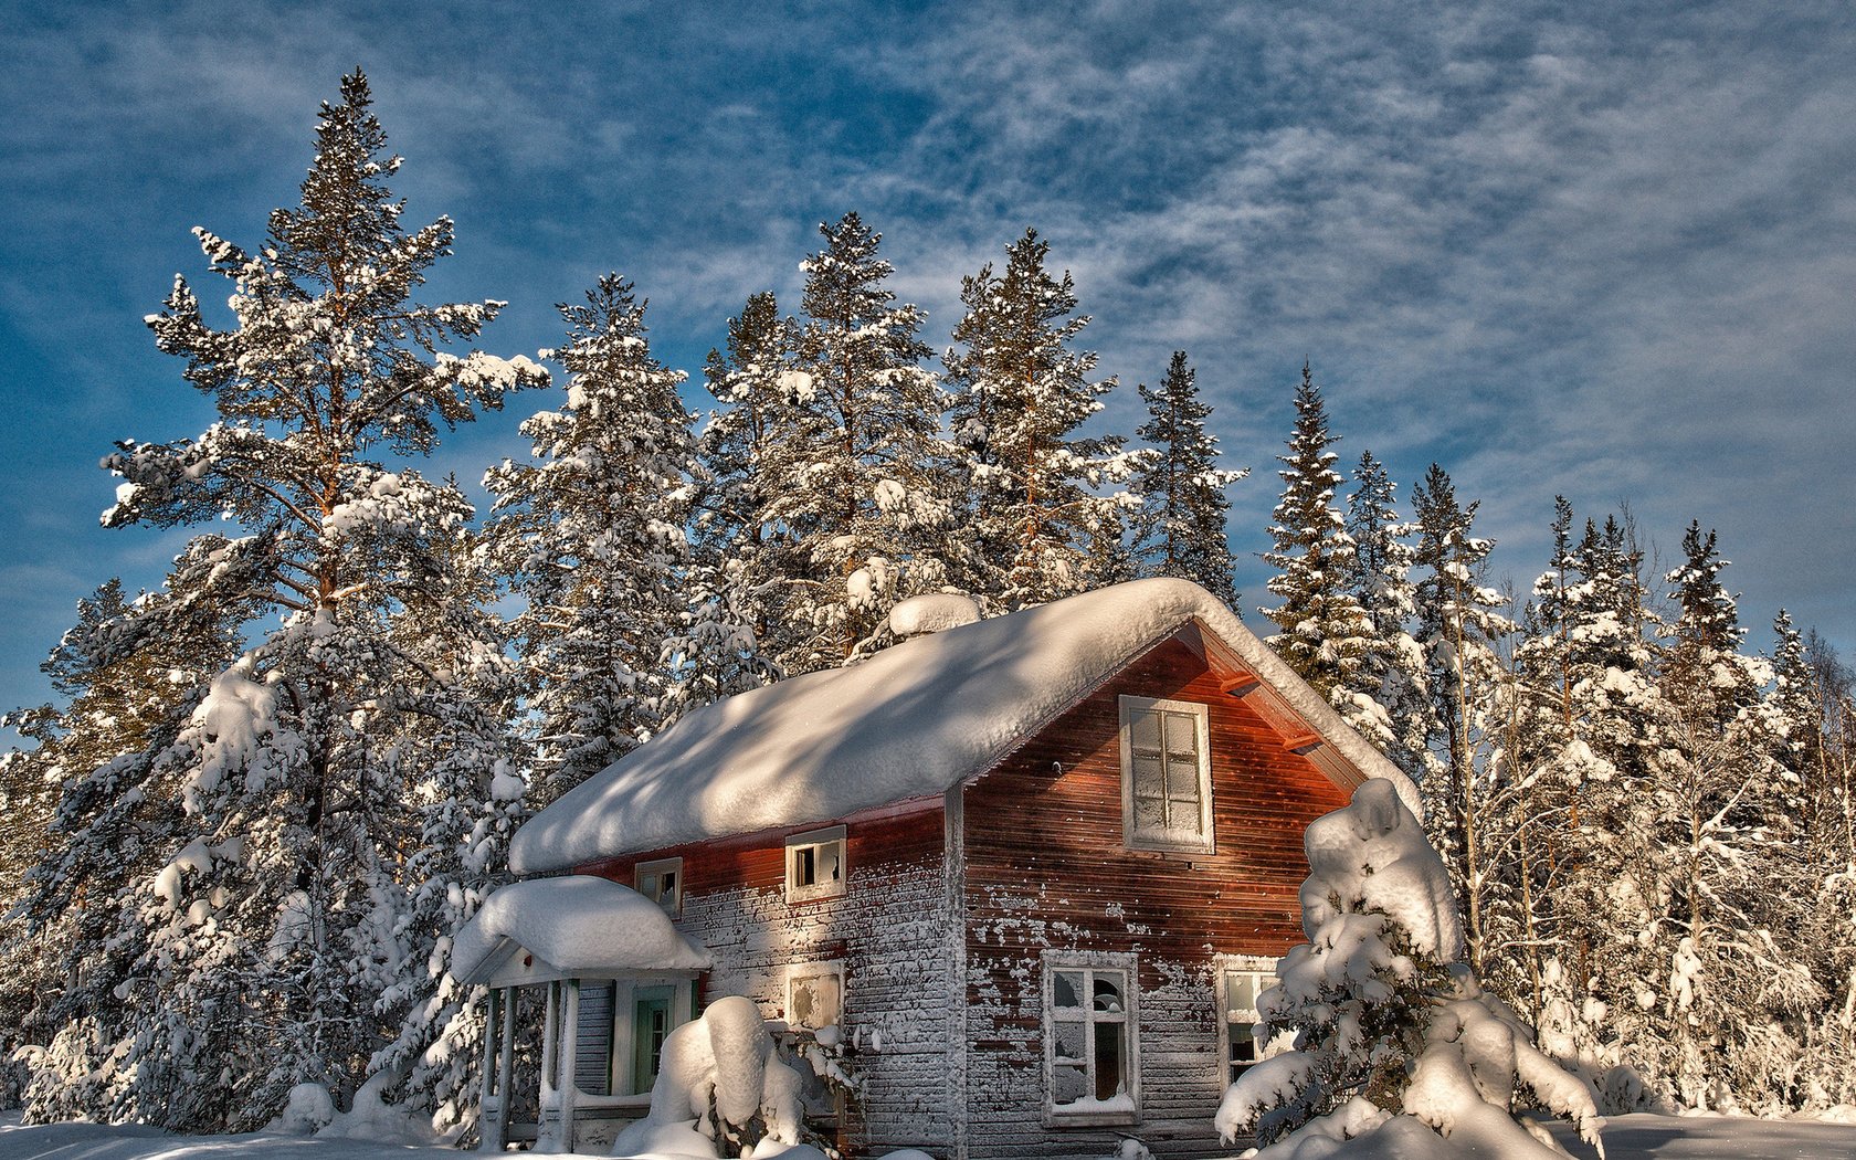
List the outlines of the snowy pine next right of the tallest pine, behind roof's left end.
<svg viewBox="0 0 1856 1160">
<path fill-rule="evenodd" d="M 503 462 L 486 538 L 525 601 L 518 650 L 548 796 L 579 785 L 668 720 L 668 653 L 687 605 L 694 416 L 683 371 L 651 356 L 631 282 L 561 304 L 566 403 L 522 425 L 535 462 Z"/>
</svg>

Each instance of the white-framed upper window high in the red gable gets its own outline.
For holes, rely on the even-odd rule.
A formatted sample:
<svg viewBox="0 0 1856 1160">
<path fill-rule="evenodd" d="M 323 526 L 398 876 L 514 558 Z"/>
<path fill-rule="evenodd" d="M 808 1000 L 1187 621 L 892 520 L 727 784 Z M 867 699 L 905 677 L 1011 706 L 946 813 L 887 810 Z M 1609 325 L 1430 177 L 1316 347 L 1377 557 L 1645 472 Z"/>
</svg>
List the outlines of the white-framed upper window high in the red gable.
<svg viewBox="0 0 1856 1160">
<path fill-rule="evenodd" d="M 1212 850 L 1208 711 L 1121 698 L 1123 841 L 1143 850 Z"/>
</svg>

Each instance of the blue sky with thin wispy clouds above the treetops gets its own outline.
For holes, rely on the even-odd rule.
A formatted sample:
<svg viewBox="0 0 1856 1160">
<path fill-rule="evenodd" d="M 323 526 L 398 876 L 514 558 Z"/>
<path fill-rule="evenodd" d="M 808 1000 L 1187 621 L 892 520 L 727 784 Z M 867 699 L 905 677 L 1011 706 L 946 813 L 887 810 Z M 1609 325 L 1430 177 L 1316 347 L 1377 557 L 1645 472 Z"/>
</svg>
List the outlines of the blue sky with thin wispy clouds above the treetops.
<svg viewBox="0 0 1856 1160">
<path fill-rule="evenodd" d="M 212 419 L 141 317 L 189 226 L 252 243 L 319 100 L 367 71 L 408 221 L 457 219 L 432 299 L 557 342 L 618 269 L 698 371 L 748 293 L 798 304 L 857 210 L 943 347 L 1025 226 L 1123 390 L 1184 349 L 1218 408 L 1245 605 L 1303 356 L 1346 462 L 1438 460 L 1494 579 L 1555 494 L 1667 557 L 1721 531 L 1754 640 L 1785 605 L 1856 651 L 1856 7 L 1839 4 L 0 4 L 0 703 L 78 598 L 182 533 L 102 531 L 119 438 Z M 219 293 L 213 290 L 212 293 Z M 522 455 L 518 395 L 444 444 Z M 1257 620 L 1255 612 L 1249 612 Z"/>
</svg>

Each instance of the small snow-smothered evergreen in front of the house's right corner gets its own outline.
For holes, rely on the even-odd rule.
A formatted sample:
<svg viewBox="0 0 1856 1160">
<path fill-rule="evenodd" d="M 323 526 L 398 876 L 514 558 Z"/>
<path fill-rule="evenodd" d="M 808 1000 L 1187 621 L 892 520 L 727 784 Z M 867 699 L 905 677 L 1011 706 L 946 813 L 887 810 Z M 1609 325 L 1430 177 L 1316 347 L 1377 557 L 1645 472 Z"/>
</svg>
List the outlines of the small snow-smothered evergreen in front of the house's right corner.
<svg viewBox="0 0 1856 1160">
<path fill-rule="evenodd" d="M 1281 984 L 1258 1002 L 1295 1049 L 1225 1091 L 1225 1141 L 1255 1134 L 1260 1160 L 1312 1160 L 1370 1134 L 1386 1154 L 1563 1160 L 1514 1115 L 1526 1088 L 1604 1156 L 1591 1088 L 1459 961 L 1450 878 L 1392 783 L 1366 781 L 1308 826 L 1305 846 L 1308 941 L 1282 958 Z"/>
</svg>

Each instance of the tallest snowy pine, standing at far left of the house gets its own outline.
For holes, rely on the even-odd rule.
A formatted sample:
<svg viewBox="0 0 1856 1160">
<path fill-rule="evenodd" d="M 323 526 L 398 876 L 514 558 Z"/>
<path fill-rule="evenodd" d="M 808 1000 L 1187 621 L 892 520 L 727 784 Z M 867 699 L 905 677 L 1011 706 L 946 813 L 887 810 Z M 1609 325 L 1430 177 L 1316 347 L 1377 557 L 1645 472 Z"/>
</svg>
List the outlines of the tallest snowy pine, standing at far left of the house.
<svg viewBox="0 0 1856 1160">
<path fill-rule="evenodd" d="M 470 848 L 427 848 L 421 815 L 457 809 L 494 828 L 520 802 L 492 787 L 503 722 L 460 709 L 477 672 L 501 664 L 501 640 L 464 607 L 470 505 L 449 483 L 366 455 L 429 453 L 440 423 L 546 375 L 523 358 L 440 349 L 473 338 L 499 304 L 412 301 L 453 230 L 401 226 L 384 184 L 399 158 L 369 106 L 366 78 L 343 78 L 340 104 L 321 110 L 301 204 L 271 215 L 256 252 L 197 230 L 232 282 L 230 330 L 206 321 L 184 278 L 148 319 L 221 421 L 193 440 L 121 444 L 106 460 L 124 479 L 106 525 L 239 529 L 197 536 L 167 598 L 126 611 L 110 635 L 174 633 L 219 609 L 254 642 L 223 672 L 182 674 L 195 683 L 176 702 L 191 713 L 158 752 L 67 783 L 67 796 L 121 796 L 115 772 L 158 778 L 160 800 L 178 804 L 148 852 L 156 872 L 111 887 L 119 930 L 80 950 L 132 954 L 137 987 L 85 1095 L 98 1117 L 247 1128 L 293 1084 L 351 1091 L 393 1038 L 397 1008 L 431 995 L 427 978 L 382 1008 L 395 965 L 444 965 L 431 926 L 408 926 L 406 856 L 427 856 L 425 876 L 496 872 L 494 859 L 473 867 Z M 451 612 L 408 637 L 406 618 L 434 607 Z M 427 726 L 445 718 L 470 718 L 470 737 Z"/>
</svg>

